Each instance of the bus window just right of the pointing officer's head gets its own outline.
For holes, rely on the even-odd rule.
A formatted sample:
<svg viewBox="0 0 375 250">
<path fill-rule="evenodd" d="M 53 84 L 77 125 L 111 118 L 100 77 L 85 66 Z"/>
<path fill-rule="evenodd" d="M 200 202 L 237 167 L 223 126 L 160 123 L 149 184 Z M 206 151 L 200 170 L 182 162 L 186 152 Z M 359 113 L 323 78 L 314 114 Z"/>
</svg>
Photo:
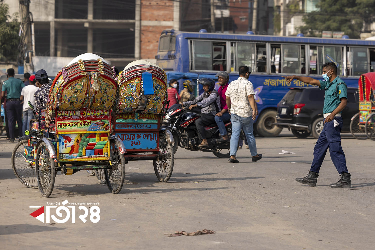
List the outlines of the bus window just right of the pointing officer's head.
<svg viewBox="0 0 375 250">
<path fill-rule="evenodd" d="M 367 48 L 349 48 L 347 67 L 348 75 L 359 76 L 368 72 Z"/>
</svg>

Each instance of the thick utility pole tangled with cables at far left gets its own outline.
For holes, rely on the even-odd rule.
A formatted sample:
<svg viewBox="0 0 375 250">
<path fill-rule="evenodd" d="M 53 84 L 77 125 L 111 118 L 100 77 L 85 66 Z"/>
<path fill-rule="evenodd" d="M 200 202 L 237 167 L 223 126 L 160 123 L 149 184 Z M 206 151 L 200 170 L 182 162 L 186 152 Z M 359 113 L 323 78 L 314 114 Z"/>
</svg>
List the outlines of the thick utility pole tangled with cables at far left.
<svg viewBox="0 0 375 250">
<path fill-rule="evenodd" d="M 34 72 L 33 49 L 31 40 L 30 0 L 19 0 L 21 16 L 21 56 L 23 58 L 24 72 Z"/>
</svg>

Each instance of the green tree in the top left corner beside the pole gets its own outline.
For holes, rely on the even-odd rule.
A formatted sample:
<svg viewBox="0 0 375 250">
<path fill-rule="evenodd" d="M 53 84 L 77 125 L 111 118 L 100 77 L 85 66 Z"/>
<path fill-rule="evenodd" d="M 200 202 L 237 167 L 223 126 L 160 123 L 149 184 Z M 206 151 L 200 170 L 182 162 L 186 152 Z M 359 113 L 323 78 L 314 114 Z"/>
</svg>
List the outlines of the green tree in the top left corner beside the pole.
<svg viewBox="0 0 375 250">
<path fill-rule="evenodd" d="M 0 61 L 16 61 L 18 55 L 18 46 L 20 45 L 20 22 L 14 15 L 10 20 L 9 6 L 3 0 L 0 0 Z"/>
</svg>

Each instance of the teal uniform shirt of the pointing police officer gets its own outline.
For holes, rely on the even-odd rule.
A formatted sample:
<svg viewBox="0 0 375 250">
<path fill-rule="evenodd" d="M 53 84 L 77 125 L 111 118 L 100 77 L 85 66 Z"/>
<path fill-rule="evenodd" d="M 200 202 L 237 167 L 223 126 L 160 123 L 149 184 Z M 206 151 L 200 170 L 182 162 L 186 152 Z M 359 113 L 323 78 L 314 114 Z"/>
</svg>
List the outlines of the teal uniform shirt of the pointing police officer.
<svg viewBox="0 0 375 250">
<path fill-rule="evenodd" d="M 339 85 L 337 88 L 337 85 Z M 344 84 L 341 78 L 336 77 L 332 82 L 320 80 L 320 89 L 326 90 L 326 96 L 324 97 L 324 108 L 323 114 L 332 113 L 341 103 L 341 98 L 345 97 L 348 99 L 348 88 Z M 336 90 L 339 92 L 336 96 Z M 339 112 L 341 114 L 342 112 Z"/>
</svg>

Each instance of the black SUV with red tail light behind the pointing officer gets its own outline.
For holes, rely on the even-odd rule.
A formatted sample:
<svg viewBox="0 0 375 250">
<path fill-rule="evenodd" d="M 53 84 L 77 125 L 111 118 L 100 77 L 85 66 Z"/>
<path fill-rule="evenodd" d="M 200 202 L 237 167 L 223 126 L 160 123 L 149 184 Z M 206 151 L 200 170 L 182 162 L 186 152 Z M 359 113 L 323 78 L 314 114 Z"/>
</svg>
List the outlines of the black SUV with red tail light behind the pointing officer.
<svg viewBox="0 0 375 250">
<path fill-rule="evenodd" d="M 318 138 L 323 130 L 324 90 L 317 87 L 290 88 L 278 104 L 278 127 L 292 130 L 298 138 L 312 134 Z M 358 88 L 348 88 L 348 104 L 342 111 L 342 132 L 350 132 L 350 119 L 359 112 Z"/>
</svg>

